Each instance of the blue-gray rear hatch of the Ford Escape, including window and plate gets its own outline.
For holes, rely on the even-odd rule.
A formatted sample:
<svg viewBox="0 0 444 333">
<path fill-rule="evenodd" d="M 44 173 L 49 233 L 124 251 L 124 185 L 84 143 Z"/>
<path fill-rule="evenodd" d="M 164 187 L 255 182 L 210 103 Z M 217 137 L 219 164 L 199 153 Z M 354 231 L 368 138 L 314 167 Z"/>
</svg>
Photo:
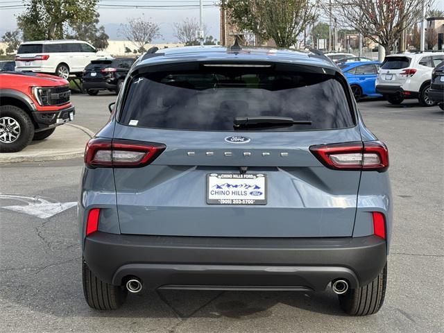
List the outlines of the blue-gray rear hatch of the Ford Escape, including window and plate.
<svg viewBox="0 0 444 333">
<path fill-rule="evenodd" d="M 307 66 L 294 72 L 244 66 L 130 81 L 113 141 L 167 148 L 145 167 L 114 168 L 121 233 L 352 235 L 361 171 L 328 169 L 309 150 L 361 144 L 345 81 Z M 257 116 L 269 122 L 250 120 L 234 130 L 242 121 L 235 117 Z M 279 118 L 273 125 L 271 117 L 305 123 Z"/>
</svg>

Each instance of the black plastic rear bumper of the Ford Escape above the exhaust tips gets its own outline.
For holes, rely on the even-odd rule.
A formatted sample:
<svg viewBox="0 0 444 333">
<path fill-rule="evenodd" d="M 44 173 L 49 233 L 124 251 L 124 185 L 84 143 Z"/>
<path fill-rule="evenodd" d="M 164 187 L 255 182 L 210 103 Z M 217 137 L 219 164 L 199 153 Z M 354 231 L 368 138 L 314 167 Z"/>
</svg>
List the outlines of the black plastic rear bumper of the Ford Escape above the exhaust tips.
<svg viewBox="0 0 444 333">
<path fill-rule="evenodd" d="M 83 257 L 101 280 L 129 276 L 148 289 L 321 291 L 337 278 L 356 288 L 386 264 L 376 236 L 334 238 L 155 237 L 95 232 Z"/>
</svg>

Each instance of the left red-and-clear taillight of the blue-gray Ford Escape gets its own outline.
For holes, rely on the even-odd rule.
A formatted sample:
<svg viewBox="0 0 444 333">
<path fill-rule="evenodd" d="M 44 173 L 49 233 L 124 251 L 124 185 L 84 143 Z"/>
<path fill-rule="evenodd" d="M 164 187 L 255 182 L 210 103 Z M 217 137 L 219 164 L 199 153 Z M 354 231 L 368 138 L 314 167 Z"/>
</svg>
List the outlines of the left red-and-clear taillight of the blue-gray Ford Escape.
<svg viewBox="0 0 444 333">
<path fill-rule="evenodd" d="M 85 148 L 85 164 L 90 168 L 144 167 L 153 162 L 167 146 L 154 142 L 121 139 L 90 139 Z"/>
</svg>

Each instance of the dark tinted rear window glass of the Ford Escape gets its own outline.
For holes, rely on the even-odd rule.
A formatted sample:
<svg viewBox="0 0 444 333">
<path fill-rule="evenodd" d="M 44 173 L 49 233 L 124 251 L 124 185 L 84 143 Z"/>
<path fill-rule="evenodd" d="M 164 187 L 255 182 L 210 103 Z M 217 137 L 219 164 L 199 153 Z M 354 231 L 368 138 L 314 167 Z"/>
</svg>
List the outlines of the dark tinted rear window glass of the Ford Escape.
<svg viewBox="0 0 444 333">
<path fill-rule="evenodd" d="M 130 83 L 120 122 L 148 128 L 232 131 L 234 117 L 253 116 L 311 121 L 259 130 L 354 125 L 343 86 L 334 76 L 242 67 L 138 76 Z"/>
</svg>

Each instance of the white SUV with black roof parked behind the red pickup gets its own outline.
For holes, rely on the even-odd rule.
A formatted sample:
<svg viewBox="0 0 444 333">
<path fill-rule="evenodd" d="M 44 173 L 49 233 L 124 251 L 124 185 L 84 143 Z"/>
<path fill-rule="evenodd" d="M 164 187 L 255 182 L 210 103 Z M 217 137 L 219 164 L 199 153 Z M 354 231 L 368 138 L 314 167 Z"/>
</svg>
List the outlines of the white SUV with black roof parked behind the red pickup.
<svg viewBox="0 0 444 333">
<path fill-rule="evenodd" d="M 56 74 L 67 79 L 70 74 L 81 74 L 91 60 L 98 58 L 112 57 L 81 40 L 24 42 L 15 56 L 15 70 Z"/>
</svg>

